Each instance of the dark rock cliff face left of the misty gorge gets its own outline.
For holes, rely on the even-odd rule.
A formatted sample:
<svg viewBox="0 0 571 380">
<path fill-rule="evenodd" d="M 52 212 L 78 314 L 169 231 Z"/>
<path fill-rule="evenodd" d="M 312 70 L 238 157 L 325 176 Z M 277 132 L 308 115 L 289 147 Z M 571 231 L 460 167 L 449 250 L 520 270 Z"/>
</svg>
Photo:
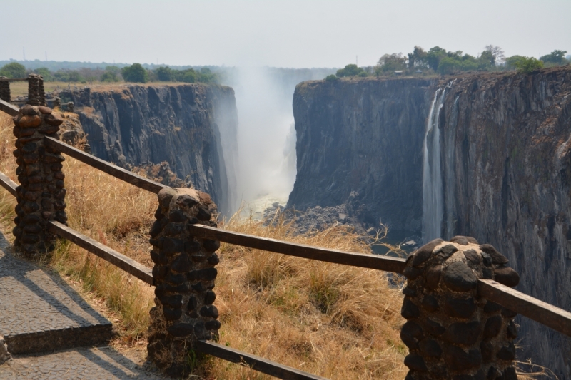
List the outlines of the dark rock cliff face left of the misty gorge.
<svg viewBox="0 0 571 380">
<path fill-rule="evenodd" d="M 122 166 L 166 161 L 208 192 L 218 210 L 232 211 L 238 125 L 232 88 L 131 85 L 60 96 L 75 103 L 93 155 Z"/>
</svg>

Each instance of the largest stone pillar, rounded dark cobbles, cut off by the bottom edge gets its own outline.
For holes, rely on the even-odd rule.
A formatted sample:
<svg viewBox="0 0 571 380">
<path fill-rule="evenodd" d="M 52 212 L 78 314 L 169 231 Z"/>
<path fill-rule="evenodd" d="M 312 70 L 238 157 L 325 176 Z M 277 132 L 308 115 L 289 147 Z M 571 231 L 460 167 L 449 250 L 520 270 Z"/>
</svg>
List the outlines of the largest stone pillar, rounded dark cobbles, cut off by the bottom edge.
<svg viewBox="0 0 571 380">
<path fill-rule="evenodd" d="M 406 380 L 517 380 L 515 313 L 477 294 L 477 279 L 520 280 L 507 259 L 473 237 L 433 240 L 408 257 L 400 337 Z"/>
</svg>

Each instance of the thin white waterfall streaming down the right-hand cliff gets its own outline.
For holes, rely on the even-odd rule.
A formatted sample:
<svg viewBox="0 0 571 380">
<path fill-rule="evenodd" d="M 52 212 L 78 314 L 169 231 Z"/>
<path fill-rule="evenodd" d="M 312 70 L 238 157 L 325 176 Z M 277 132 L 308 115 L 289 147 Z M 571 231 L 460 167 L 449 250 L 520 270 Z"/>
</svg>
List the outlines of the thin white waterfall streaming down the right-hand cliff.
<svg viewBox="0 0 571 380">
<path fill-rule="evenodd" d="M 442 235 L 443 183 L 440 170 L 440 129 L 438 118 L 444 103 L 446 88 L 434 94 L 423 146 L 423 241 L 429 242 Z"/>
</svg>

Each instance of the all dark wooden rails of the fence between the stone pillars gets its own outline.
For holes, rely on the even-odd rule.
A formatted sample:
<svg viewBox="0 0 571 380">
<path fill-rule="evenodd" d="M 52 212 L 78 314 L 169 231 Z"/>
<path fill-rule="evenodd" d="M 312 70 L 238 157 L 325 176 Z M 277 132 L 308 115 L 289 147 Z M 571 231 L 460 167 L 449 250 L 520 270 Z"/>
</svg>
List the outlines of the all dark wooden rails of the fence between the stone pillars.
<svg viewBox="0 0 571 380">
<path fill-rule="evenodd" d="M 18 115 L 19 109 L 11 104 L 0 100 L 0 111 L 9 113 L 10 115 Z M 120 180 L 130 183 L 149 192 L 158 193 L 167 188 L 165 185 L 148 180 L 139 175 L 131 173 L 128 170 L 118 168 L 116 165 L 107 163 L 106 161 L 95 158 L 92 155 L 73 148 L 65 143 L 61 143 L 54 138 L 45 137 L 44 145 L 46 147 L 58 150 L 61 153 L 70 155 L 83 163 L 93 166 L 98 170 L 113 175 Z M 8 178 L 4 173 L 0 173 L 0 185 L 8 190 L 12 195 L 16 196 L 16 183 Z M 283 255 L 295 257 L 303 257 L 310 260 L 318 260 L 322 262 L 332 262 L 335 264 L 350 265 L 353 267 L 363 267 L 368 269 L 378 269 L 386 272 L 402 274 L 405 269 L 405 260 L 394 257 L 385 257 L 381 255 L 363 255 L 356 252 L 343 252 L 339 250 L 328 250 L 320 247 L 312 247 L 309 245 L 300 245 L 292 242 L 281 240 L 273 240 L 253 235 L 244 235 L 238 232 L 220 230 L 214 227 L 204 225 L 191 225 L 190 233 L 194 237 L 201 239 L 217 240 L 227 242 L 233 245 L 241 245 L 243 247 L 251 247 L 259 250 L 277 252 Z M 123 269 L 128 274 L 141 279 L 150 285 L 154 284 L 153 273 L 151 269 L 145 267 L 134 260 L 121 255 L 121 253 L 102 245 L 89 237 L 81 235 L 81 233 L 72 230 L 60 222 L 51 221 L 49 230 L 60 237 L 64 237 L 85 250 L 101 257 L 103 260 Z M 561 332 L 571 337 L 571 313 L 563 309 L 555 307 L 551 304 L 535 299 L 521 292 L 517 292 L 510 287 L 499 284 L 491 279 L 478 279 L 477 292 L 480 297 L 489 299 L 492 302 L 506 307 L 507 309 L 533 319 L 545 326 L 550 327 L 557 332 Z M 279 379 L 323 379 L 320 376 L 308 374 L 298 369 L 284 366 L 282 364 L 269 361 L 248 354 L 243 351 L 232 349 L 211 341 L 196 342 L 196 349 L 204 354 L 216 356 L 226 361 L 238 364 L 247 364 L 251 368 L 261 371 Z"/>
</svg>

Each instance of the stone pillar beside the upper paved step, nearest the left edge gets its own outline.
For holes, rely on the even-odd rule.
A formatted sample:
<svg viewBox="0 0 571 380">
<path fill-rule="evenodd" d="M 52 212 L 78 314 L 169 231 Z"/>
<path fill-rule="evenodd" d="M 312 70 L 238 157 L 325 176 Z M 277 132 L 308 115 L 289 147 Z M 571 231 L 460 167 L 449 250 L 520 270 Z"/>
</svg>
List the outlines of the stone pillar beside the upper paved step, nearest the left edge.
<svg viewBox="0 0 571 380">
<path fill-rule="evenodd" d="M 47 220 L 67 222 L 66 189 L 61 162 L 65 158 L 44 146 L 44 136 L 59 139 L 57 132 L 63 119 L 51 108 L 26 105 L 14 118 L 18 168 L 21 185 L 16 188 L 14 245 L 29 257 L 54 247 L 56 237 L 48 231 Z"/>
</svg>

